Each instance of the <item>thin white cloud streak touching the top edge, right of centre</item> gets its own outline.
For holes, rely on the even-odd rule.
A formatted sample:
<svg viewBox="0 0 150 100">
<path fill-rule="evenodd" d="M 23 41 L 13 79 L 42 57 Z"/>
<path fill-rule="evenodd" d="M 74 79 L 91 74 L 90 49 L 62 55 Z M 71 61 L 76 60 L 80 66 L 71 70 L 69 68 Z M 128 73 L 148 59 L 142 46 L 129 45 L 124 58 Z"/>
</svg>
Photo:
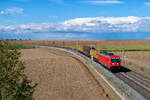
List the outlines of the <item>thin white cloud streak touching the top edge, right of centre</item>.
<svg viewBox="0 0 150 100">
<path fill-rule="evenodd" d="M 87 1 L 91 4 L 123 4 L 124 2 L 118 0 L 106 0 L 106 1 Z"/>
</svg>

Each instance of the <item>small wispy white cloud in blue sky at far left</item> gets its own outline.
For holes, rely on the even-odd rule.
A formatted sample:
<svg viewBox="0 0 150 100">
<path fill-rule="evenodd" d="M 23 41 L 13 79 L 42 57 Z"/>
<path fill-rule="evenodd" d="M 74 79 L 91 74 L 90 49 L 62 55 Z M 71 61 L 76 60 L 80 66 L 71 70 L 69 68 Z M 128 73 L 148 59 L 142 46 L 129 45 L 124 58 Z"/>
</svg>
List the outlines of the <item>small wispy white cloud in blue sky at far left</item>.
<svg viewBox="0 0 150 100">
<path fill-rule="evenodd" d="M 23 14 L 24 9 L 18 7 L 6 8 L 0 11 L 1 15 Z"/>
</svg>

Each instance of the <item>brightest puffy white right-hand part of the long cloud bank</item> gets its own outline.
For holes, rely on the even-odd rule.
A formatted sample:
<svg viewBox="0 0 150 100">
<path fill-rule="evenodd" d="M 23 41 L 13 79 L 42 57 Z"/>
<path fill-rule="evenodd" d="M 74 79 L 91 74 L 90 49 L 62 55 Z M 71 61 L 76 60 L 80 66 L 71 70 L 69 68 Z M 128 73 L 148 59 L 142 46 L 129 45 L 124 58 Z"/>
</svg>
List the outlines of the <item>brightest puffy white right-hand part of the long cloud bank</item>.
<svg viewBox="0 0 150 100">
<path fill-rule="evenodd" d="M 74 30 L 74 31 L 82 31 L 82 32 L 84 31 L 85 32 L 150 31 L 149 22 L 150 22 L 150 17 L 140 18 L 134 16 L 76 18 L 76 19 L 71 19 L 63 22 L 62 30 Z"/>
</svg>

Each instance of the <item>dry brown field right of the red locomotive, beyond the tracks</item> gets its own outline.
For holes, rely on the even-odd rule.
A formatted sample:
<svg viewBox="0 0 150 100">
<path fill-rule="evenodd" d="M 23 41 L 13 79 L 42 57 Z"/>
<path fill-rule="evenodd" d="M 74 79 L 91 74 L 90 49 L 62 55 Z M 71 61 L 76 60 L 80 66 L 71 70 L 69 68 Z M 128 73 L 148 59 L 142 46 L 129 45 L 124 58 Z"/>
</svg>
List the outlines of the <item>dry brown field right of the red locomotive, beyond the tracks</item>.
<svg viewBox="0 0 150 100">
<path fill-rule="evenodd" d="M 121 52 L 115 52 L 115 54 L 120 55 L 121 58 L 123 56 Z M 122 60 L 123 65 L 150 76 L 150 51 L 130 51 L 125 52 L 124 55 L 126 58 Z"/>
</svg>

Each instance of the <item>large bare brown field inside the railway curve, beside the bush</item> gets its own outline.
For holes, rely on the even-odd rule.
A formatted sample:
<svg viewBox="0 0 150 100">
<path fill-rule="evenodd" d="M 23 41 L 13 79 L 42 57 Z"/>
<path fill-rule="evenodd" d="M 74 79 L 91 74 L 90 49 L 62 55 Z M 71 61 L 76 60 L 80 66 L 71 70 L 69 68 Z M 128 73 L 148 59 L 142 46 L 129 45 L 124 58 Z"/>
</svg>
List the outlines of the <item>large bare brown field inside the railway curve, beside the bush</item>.
<svg viewBox="0 0 150 100">
<path fill-rule="evenodd" d="M 25 73 L 39 85 L 35 100 L 111 100 L 84 64 L 54 49 L 22 50 Z"/>
</svg>

